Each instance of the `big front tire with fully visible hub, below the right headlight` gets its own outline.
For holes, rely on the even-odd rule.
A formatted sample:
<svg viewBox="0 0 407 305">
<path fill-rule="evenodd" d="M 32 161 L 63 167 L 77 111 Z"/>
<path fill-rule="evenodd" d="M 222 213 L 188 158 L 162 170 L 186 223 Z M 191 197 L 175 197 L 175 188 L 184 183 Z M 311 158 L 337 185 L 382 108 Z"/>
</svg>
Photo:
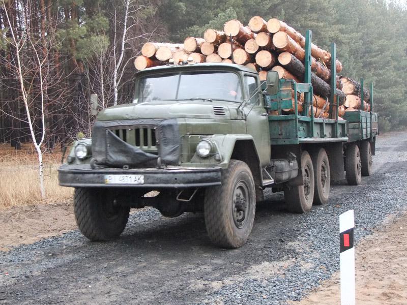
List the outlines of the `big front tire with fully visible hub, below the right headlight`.
<svg viewBox="0 0 407 305">
<path fill-rule="evenodd" d="M 239 248 L 249 238 L 256 195 L 253 175 L 246 163 L 231 160 L 222 172 L 222 184 L 208 188 L 204 203 L 209 238 L 224 248 Z"/>
</svg>

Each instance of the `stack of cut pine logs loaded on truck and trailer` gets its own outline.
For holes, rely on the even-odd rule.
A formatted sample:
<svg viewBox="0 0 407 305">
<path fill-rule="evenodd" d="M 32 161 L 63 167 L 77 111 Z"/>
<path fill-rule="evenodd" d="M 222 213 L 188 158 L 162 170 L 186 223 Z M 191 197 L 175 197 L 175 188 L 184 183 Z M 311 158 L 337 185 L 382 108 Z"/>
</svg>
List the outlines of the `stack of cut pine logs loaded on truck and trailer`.
<svg viewBox="0 0 407 305">
<path fill-rule="evenodd" d="M 266 22 L 259 16 L 250 19 L 248 26 L 239 20 L 224 24 L 223 31 L 207 29 L 203 38 L 187 37 L 183 44 L 148 42 L 141 48 L 134 65 L 137 70 L 174 64 L 193 63 L 235 63 L 244 65 L 259 73 L 265 80 L 267 71 L 277 71 L 280 78 L 304 81 L 305 38 L 293 27 L 276 18 Z M 341 72 L 342 64 L 336 60 L 336 71 Z M 315 117 L 328 117 L 331 95 L 331 54 L 318 46 L 311 45 L 311 83 L 313 87 L 313 109 Z M 336 94 L 339 97 L 339 116 L 345 111 L 362 109 L 369 111 L 370 94 L 364 89 L 361 101 L 359 82 L 340 76 L 336 79 Z M 294 94 L 293 94 L 294 96 Z M 298 96 L 298 109 L 302 110 L 303 96 Z M 294 98 L 293 98 L 294 102 Z M 294 104 L 294 103 L 293 103 Z M 291 109 L 284 109 L 292 113 Z M 275 114 L 275 113 L 271 113 Z"/>
</svg>

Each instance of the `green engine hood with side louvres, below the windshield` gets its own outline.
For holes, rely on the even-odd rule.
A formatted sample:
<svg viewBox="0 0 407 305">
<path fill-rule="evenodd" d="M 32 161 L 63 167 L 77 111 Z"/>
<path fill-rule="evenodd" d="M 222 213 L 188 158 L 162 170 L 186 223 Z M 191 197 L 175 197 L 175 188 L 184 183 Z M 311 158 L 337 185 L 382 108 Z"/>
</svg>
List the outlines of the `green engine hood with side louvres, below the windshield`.
<svg viewBox="0 0 407 305">
<path fill-rule="evenodd" d="M 239 103 L 206 101 L 151 101 L 113 106 L 102 110 L 98 120 L 139 118 L 240 119 Z"/>
</svg>

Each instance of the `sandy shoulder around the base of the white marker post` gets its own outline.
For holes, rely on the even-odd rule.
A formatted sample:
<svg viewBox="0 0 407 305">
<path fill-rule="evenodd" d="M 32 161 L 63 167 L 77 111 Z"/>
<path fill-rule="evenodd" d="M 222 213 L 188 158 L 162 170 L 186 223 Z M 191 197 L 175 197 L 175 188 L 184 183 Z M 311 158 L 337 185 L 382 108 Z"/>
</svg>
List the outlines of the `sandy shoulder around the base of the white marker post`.
<svg viewBox="0 0 407 305">
<path fill-rule="evenodd" d="M 356 246 L 356 303 L 407 304 L 407 214 Z M 339 304 L 339 273 L 296 305 Z"/>
</svg>

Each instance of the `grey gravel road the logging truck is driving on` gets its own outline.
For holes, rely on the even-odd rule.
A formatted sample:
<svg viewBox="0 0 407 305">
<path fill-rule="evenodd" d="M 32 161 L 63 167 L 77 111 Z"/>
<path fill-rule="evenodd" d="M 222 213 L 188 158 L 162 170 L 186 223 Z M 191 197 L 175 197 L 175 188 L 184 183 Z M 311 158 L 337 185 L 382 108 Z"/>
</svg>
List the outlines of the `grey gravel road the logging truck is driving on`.
<svg viewBox="0 0 407 305">
<path fill-rule="evenodd" d="M 281 194 L 257 205 L 248 243 L 214 248 L 202 215 L 132 214 L 122 237 L 90 242 L 77 230 L 0 253 L 0 304 L 284 304 L 339 268 L 339 214 L 355 209 L 356 241 L 405 211 L 407 133 L 376 143 L 374 173 L 344 181 L 305 215 Z"/>
</svg>

